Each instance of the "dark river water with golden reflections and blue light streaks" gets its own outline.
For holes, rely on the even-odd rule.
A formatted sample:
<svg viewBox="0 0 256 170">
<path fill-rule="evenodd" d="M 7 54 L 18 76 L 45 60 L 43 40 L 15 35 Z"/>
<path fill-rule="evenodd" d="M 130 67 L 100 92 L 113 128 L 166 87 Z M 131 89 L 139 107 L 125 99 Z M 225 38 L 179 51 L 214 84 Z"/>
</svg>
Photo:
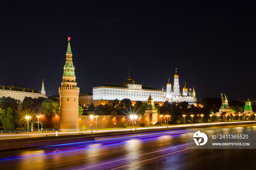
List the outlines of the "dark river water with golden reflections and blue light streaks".
<svg viewBox="0 0 256 170">
<path fill-rule="evenodd" d="M 256 130 L 256 126 L 246 128 Z M 244 129 L 216 131 L 241 133 Z M 253 161 L 249 161 L 256 156 L 255 150 L 186 149 L 185 144 L 185 134 L 162 132 L 161 135 L 4 151 L 0 153 L 0 169 L 255 169 Z"/>
</svg>

